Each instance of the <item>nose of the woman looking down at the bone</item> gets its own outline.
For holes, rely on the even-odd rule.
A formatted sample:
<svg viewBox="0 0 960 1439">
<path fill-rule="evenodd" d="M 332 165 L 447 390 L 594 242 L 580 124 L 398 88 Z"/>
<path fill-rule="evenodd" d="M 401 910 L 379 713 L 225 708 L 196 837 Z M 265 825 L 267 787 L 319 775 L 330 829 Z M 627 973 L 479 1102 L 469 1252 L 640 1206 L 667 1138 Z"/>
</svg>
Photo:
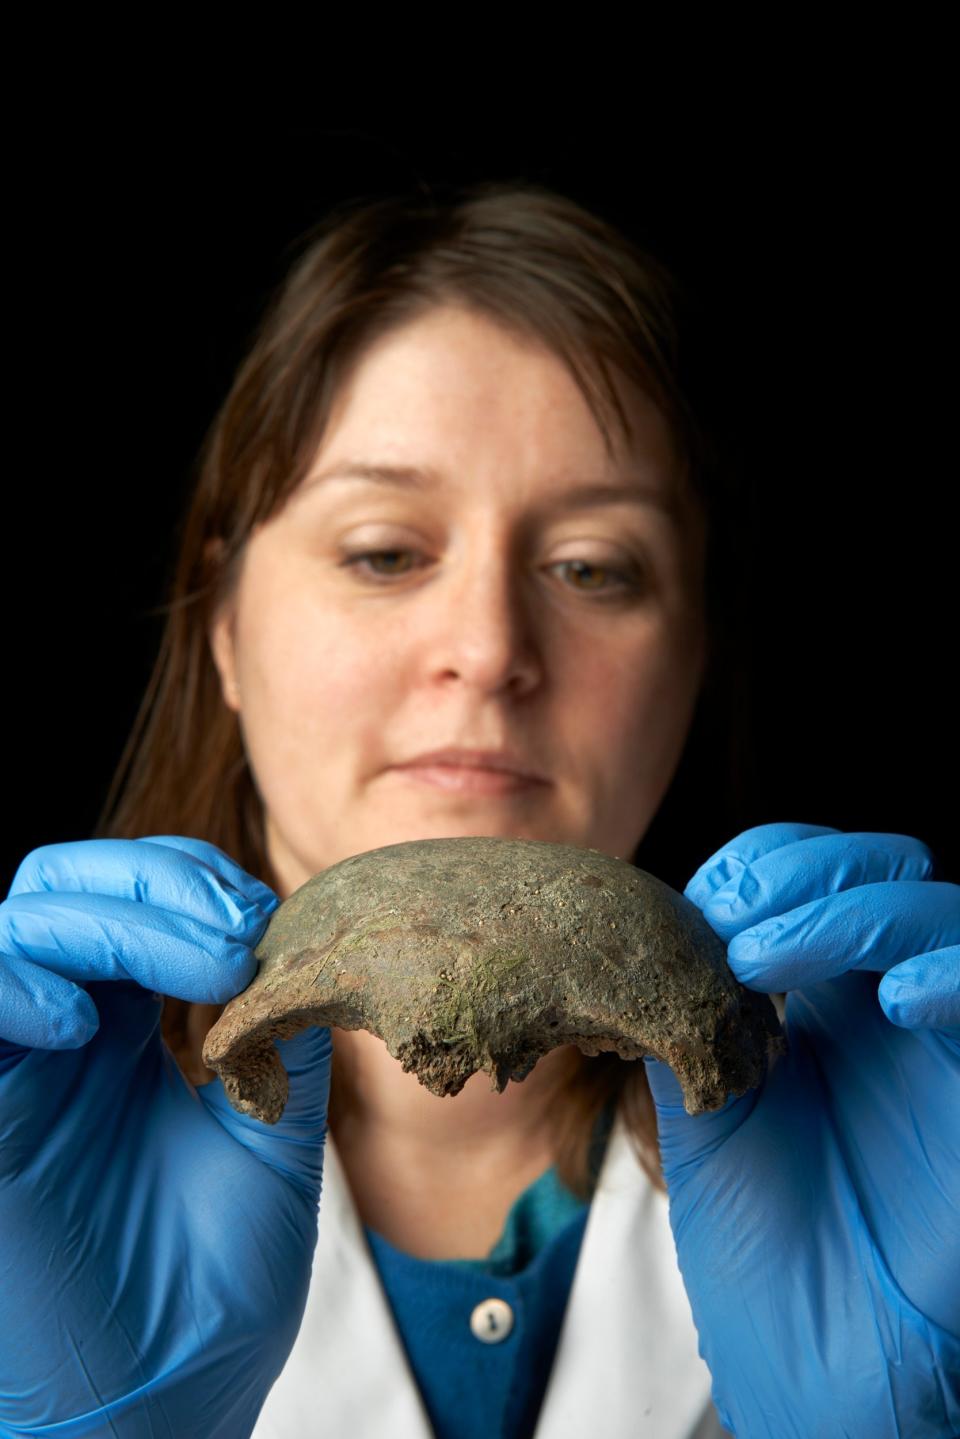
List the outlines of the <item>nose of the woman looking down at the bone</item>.
<svg viewBox="0 0 960 1439">
<path fill-rule="evenodd" d="M 528 694 L 543 678 L 537 613 L 520 567 L 494 535 L 475 537 L 432 589 L 427 665 L 484 694 Z"/>
</svg>

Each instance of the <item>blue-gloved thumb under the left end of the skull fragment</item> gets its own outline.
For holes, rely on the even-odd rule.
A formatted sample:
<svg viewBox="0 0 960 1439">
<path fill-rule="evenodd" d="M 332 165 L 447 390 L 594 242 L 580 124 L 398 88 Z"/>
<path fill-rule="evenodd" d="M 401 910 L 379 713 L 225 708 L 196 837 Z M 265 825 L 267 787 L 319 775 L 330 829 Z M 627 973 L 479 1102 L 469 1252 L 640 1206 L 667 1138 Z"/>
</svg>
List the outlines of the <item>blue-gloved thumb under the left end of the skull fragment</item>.
<svg viewBox="0 0 960 1439">
<path fill-rule="evenodd" d="M 276 1124 L 262 1124 L 253 1115 L 235 1109 L 219 1076 L 199 1088 L 197 1094 L 239 1144 L 271 1168 L 318 1194 L 332 1062 L 330 1029 L 311 1025 L 292 1039 L 275 1040 L 275 1045 L 289 1079 L 286 1104 Z"/>
</svg>

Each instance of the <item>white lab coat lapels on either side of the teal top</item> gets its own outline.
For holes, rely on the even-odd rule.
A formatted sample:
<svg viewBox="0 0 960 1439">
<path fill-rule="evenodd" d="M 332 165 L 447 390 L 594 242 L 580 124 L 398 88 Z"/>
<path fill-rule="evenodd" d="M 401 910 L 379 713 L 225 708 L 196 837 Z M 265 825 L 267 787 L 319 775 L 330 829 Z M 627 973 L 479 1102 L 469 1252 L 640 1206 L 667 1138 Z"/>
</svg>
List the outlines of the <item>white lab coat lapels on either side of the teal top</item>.
<svg viewBox="0 0 960 1439">
<path fill-rule="evenodd" d="M 643 1173 L 619 1114 L 534 1439 L 584 1433 L 604 1439 L 727 1435 L 697 1350 L 666 1196 Z M 433 1430 L 328 1135 L 307 1308 L 253 1439 L 344 1436 L 433 1439 Z"/>
</svg>

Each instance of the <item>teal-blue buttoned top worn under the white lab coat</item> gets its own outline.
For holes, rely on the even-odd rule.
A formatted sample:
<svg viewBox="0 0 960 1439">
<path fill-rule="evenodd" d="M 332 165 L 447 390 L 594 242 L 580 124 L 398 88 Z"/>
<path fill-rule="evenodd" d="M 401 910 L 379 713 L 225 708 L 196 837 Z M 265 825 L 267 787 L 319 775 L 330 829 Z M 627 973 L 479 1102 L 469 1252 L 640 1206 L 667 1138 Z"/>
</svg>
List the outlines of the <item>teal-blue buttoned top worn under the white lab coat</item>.
<svg viewBox="0 0 960 1439">
<path fill-rule="evenodd" d="M 603 1160 L 612 1111 L 597 1121 L 590 1170 Z M 550 1167 L 512 1204 L 484 1259 L 417 1259 L 366 1226 L 436 1439 L 522 1439 L 533 1433 L 550 1377 L 590 1212 Z M 510 1305 L 512 1327 L 484 1343 L 471 1315 Z"/>
</svg>

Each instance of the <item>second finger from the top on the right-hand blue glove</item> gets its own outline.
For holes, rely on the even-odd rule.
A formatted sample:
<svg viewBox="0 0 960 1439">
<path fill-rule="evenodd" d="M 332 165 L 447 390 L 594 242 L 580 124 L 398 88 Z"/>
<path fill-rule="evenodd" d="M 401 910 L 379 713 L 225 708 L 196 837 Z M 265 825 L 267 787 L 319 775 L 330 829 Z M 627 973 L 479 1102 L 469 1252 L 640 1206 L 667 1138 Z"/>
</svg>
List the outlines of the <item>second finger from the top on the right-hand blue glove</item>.
<svg viewBox="0 0 960 1439">
<path fill-rule="evenodd" d="M 836 830 L 750 861 L 712 892 L 704 917 L 730 941 L 741 930 L 823 895 L 891 879 L 930 879 L 934 866 L 930 848 L 910 835 Z"/>
</svg>

